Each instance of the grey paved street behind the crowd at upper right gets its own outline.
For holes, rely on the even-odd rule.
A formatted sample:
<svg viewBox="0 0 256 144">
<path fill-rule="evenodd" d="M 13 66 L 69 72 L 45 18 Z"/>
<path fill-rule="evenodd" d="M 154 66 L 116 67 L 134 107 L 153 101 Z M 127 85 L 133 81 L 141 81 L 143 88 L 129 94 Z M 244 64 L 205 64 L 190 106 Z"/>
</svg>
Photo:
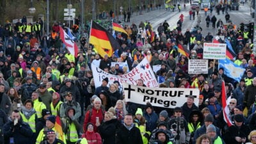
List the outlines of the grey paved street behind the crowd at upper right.
<svg viewBox="0 0 256 144">
<path fill-rule="evenodd" d="M 248 2 L 250 3 L 250 2 Z M 128 24 L 131 26 L 132 22 L 134 22 L 137 26 L 140 24 L 141 21 L 145 22 L 145 20 L 148 20 L 150 24 L 152 24 L 154 31 L 157 31 L 157 27 L 160 23 L 164 22 L 164 20 L 168 21 L 168 24 L 170 25 L 170 29 L 173 29 L 177 26 L 177 21 L 179 20 L 179 16 L 181 13 L 184 15 L 184 22 L 182 24 L 182 33 L 186 31 L 186 29 L 192 29 L 196 26 L 197 18 L 195 20 L 189 20 L 189 9 L 190 4 L 186 4 L 186 10 L 184 10 L 183 3 L 182 5 L 182 11 L 179 12 L 179 10 L 175 10 L 175 12 L 166 11 L 165 9 L 161 10 L 153 10 L 150 12 L 143 12 L 143 15 L 136 15 L 134 13 L 131 17 L 131 22 L 125 22 L 125 24 Z M 244 23 L 248 23 L 250 20 L 252 20 L 250 15 L 250 7 L 248 4 L 244 4 L 244 6 L 241 4 L 239 7 L 239 11 L 229 11 L 230 14 L 230 20 L 237 26 L 241 23 L 241 21 L 244 21 Z M 209 14 L 209 12 L 208 12 Z M 204 10 L 200 10 L 201 15 L 201 23 L 200 26 L 202 27 L 203 31 L 202 34 L 205 36 L 208 32 L 211 32 L 212 35 L 215 35 L 218 32 L 218 29 L 212 29 L 211 24 L 210 28 L 206 29 L 206 22 L 205 22 L 205 15 Z M 212 12 L 212 15 L 215 15 L 217 20 L 221 19 L 225 24 L 225 14 L 223 15 L 222 12 L 220 12 L 220 15 L 217 15 L 215 10 Z"/>
</svg>

